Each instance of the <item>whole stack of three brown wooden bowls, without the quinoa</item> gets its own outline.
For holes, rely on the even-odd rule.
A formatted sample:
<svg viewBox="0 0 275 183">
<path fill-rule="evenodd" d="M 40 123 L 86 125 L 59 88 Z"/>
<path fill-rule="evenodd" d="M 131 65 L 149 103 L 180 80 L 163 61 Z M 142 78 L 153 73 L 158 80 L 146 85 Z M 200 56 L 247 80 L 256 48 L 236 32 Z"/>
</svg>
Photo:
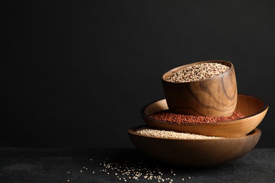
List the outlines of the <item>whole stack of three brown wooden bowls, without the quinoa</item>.
<svg viewBox="0 0 275 183">
<path fill-rule="evenodd" d="M 193 82 L 169 82 L 167 77 L 190 65 L 221 63 L 229 69 L 221 75 Z M 133 144 L 154 159 L 182 166 L 219 165 L 236 160 L 250 152 L 259 141 L 262 122 L 269 105 L 255 96 L 238 94 L 233 64 L 228 61 L 203 61 L 169 70 L 162 77 L 165 99 L 154 101 L 141 109 L 146 125 L 128 130 Z M 159 111 L 193 116 L 230 116 L 234 111 L 245 117 L 209 123 L 175 123 L 151 118 Z M 177 139 L 153 137 L 136 130 L 149 127 L 154 130 L 200 134 L 221 139 Z"/>
</svg>

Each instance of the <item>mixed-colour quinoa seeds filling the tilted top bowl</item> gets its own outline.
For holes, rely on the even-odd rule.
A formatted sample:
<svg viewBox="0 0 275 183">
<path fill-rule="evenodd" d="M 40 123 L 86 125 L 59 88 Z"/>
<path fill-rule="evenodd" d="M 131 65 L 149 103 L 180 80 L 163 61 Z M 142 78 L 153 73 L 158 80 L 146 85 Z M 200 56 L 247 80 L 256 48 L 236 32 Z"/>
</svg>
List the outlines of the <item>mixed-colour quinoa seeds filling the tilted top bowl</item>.
<svg viewBox="0 0 275 183">
<path fill-rule="evenodd" d="M 194 82 L 221 75 L 228 70 L 229 67 L 221 63 L 199 63 L 178 70 L 165 80 L 168 82 Z"/>
</svg>

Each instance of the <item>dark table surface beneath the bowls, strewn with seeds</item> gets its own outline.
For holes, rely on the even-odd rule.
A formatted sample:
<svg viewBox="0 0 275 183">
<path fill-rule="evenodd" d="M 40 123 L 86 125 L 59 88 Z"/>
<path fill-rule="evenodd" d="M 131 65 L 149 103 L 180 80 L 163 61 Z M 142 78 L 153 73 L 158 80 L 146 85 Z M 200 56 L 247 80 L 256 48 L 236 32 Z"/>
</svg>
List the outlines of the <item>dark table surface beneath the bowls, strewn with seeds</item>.
<svg viewBox="0 0 275 183">
<path fill-rule="evenodd" d="M 275 149 L 209 168 L 182 168 L 137 149 L 0 148 L 0 182 L 275 182 Z"/>
</svg>

